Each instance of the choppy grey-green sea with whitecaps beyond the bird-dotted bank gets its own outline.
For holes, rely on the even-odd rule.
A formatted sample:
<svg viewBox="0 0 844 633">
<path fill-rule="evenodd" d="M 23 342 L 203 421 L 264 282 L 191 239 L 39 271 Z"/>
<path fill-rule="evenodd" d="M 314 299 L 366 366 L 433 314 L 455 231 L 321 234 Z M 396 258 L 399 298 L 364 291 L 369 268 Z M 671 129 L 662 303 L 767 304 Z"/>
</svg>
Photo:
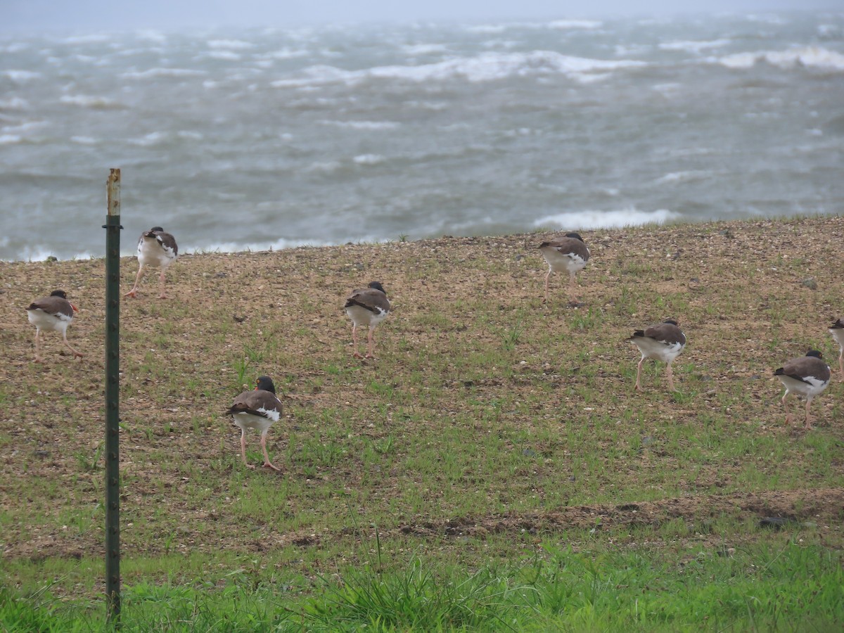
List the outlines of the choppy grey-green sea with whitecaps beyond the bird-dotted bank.
<svg viewBox="0 0 844 633">
<path fill-rule="evenodd" d="M 844 11 L 0 33 L 0 259 L 844 212 Z"/>
</svg>

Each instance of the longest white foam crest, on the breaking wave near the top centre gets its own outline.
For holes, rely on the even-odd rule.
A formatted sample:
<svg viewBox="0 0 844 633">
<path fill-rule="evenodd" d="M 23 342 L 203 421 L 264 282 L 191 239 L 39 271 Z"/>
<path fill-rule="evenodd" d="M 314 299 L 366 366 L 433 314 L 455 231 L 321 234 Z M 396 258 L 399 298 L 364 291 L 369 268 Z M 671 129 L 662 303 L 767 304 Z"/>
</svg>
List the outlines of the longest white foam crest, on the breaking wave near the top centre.
<svg viewBox="0 0 844 633">
<path fill-rule="evenodd" d="M 311 66 L 305 69 L 309 78 L 283 79 L 273 82 L 276 88 L 306 87 L 313 84 L 356 84 L 368 78 L 404 79 L 418 83 L 463 78 L 470 82 L 486 82 L 508 77 L 533 77 L 563 74 L 587 80 L 591 73 L 609 73 L 620 68 L 638 68 L 647 62 L 631 59 L 603 60 L 571 57 L 555 51 L 527 53 L 484 52 L 477 57 L 458 57 L 419 66 L 378 66 L 345 71 L 333 66 Z"/>
</svg>

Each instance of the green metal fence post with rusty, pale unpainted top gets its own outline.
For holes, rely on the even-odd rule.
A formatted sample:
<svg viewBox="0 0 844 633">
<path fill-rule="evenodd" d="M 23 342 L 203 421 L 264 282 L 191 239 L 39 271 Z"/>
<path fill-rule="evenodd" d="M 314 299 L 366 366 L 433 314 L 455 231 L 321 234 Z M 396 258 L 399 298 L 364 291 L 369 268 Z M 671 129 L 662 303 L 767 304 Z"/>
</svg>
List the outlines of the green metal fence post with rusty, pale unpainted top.
<svg viewBox="0 0 844 633">
<path fill-rule="evenodd" d="M 106 614 L 120 628 L 120 170 L 106 184 Z"/>
</svg>

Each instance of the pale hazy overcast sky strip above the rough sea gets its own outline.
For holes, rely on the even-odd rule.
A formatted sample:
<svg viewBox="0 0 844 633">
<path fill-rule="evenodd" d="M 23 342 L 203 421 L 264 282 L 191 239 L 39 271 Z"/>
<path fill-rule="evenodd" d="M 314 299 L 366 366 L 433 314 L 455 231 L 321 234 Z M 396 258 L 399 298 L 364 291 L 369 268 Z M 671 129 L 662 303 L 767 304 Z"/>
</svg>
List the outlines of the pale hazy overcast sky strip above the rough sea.
<svg viewBox="0 0 844 633">
<path fill-rule="evenodd" d="M 324 22 L 564 19 L 640 14 L 844 11 L 844 0 L 0 0 L 0 30 L 297 26 Z"/>
</svg>

